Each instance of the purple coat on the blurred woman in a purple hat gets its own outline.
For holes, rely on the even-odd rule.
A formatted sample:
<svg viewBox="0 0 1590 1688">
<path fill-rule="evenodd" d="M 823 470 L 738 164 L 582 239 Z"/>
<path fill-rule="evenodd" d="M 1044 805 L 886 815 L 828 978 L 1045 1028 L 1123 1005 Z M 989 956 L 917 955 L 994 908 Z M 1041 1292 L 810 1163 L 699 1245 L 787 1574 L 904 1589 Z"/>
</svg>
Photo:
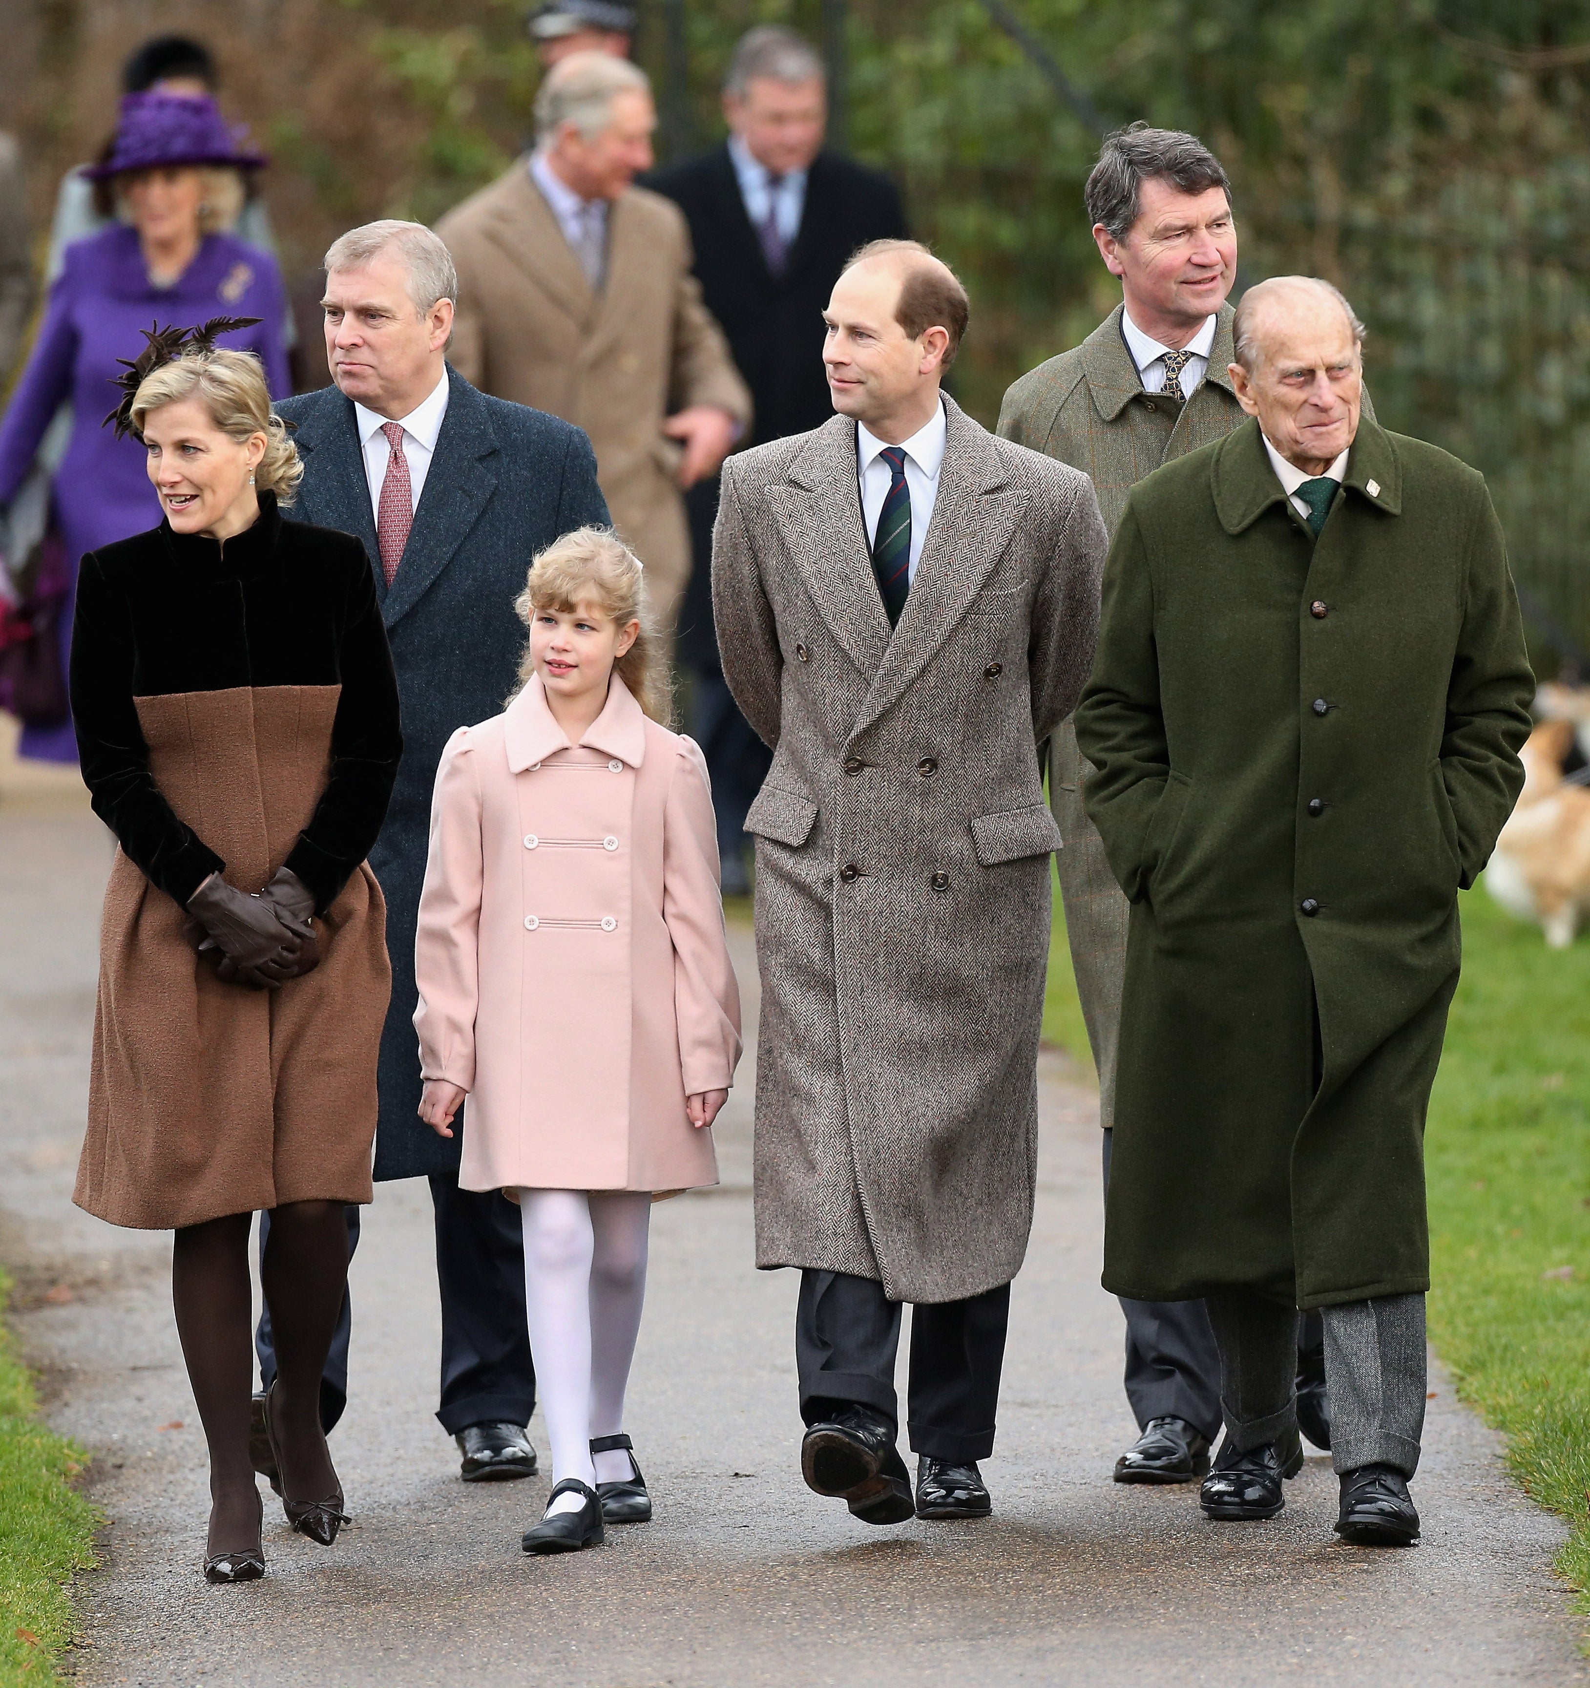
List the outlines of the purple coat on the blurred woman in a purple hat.
<svg viewBox="0 0 1590 1688">
<path fill-rule="evenodd" d="M 118 538 L 160 525 L 160 501 L 145 473 L 145 452 L 135 439 L 116 439 L 100 422 L 120 393 L 116 358 L 143 349 L 142 329 L 152 322 L 189 327 L 213 316 L 257 316 L 255 327 L 226 334 L 224 346 L 257 351 L 265 363 L 272 397 L 292 390 L 282 346 L 285 302 L 275 258 L 231 235 L 208 235 L 174 287 L 155 287 L 143 267 L 137 231 L 118 225 L 66 250 L 66 268 L 51 289 L 49 309 L 22 380 L 0 422 L 0 505 L 22 483 L 62 403 L 71 403 L 73 436 L 56 473 L 56 515 L 66 540 L 71 574 L 78 559 Z M 71 603 L 61 618 L 62 662 L 71 638 Z M 25 756 L 74 761 L 71 724 L 27 728 Z"/>
</svg>

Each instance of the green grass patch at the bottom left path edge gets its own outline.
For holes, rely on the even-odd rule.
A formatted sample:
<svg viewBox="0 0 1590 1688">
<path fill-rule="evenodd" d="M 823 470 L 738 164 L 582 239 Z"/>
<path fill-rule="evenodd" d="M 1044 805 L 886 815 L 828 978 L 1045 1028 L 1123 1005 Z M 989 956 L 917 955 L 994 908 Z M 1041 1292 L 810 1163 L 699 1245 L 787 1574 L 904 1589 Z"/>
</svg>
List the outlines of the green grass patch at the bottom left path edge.
<svg viewBox="0 0 1590 1688">
<path fill-rule="evenodd" d="M 0 1273 L 0 1307 L 10 1281 Z M 68 1580 L 95 1563 L 98 1509 L 73 1489 L 81 1448 L 37 1416 L 32 1377 L 0 1325 L 0 1688 L 54 1683 L 74 1620 Z"/>
</svg>

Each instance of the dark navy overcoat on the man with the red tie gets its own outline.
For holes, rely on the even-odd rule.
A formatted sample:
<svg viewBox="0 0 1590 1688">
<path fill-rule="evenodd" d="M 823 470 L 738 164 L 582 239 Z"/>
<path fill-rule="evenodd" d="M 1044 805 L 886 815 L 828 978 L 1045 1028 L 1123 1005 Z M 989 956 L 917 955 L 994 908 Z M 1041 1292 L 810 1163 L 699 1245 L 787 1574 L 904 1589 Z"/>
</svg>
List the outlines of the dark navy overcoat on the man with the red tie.
<svg viewBox="0 0 1590 1688">
<path fill-rule="evenodd" d="M 462 1134 L 422 1124 L 414 1033 L 414 928 L 430 832 L 430 788 L 442 748 L 461 726 L 500 714 L 518 674 L 525 628 L 513 599 L 530 559 L 560 533 L 606 523 L 596 456 L 577 427 L 488 398 L 447 371 L 447 415 L 425 474 L 414 530 L 392 589 L 376 598 L 403 711 L 403 760 L 387 824 L 370 852 L 387 893 L 392 1008 L 381 1036 L 376 1178 L 457 1171 Z M 380 557 L 353 402 L 334 387 L 284 398 L 304 459 L 294 517 L 356 533 Z"/>
</svg>

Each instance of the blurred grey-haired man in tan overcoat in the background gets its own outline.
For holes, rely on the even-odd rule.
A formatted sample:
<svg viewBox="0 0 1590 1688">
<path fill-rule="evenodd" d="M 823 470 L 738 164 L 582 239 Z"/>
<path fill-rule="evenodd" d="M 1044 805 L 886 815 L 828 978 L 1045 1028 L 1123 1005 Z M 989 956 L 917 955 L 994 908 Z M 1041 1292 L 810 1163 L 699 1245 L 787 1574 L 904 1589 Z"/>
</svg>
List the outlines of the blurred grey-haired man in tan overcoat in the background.
<svg viewBox="0 0 1590 1688">
<path fill-rule="evenodd" d="M 690 574 L 684 493 L 716 474 L 751 395 L 690 273 L 685 219 L 633 187 L 657 116 L 645 73 L 560 61 L 528 159 L 437 225 L 459 273 L 449 360 L 498 398 L 574 422 L 665 630 Z"/>
</svg>

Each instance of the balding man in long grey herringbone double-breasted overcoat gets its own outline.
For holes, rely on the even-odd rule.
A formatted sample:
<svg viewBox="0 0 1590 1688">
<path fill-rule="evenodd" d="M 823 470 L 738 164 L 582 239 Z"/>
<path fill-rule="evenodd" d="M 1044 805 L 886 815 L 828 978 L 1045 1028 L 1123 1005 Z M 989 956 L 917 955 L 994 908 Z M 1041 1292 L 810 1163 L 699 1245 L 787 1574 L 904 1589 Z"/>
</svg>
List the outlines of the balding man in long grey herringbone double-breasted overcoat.
<svg viewBox="0 0 1590 1688">
<path fill-rule="evenodd" d="M 712 550 L 724 675 L 775 753 L 746 822 L 756 1261 L 802 1268 L 807 1482 L 874 1524 L 991 1507 L 1060 842 L 1038 746 L 1106 549 L 1085 476 L 940 395 L 965 316 L 925 248 L 863 248 L 827 311 L 841 414 L 727 461 Z"/>
</svg>

